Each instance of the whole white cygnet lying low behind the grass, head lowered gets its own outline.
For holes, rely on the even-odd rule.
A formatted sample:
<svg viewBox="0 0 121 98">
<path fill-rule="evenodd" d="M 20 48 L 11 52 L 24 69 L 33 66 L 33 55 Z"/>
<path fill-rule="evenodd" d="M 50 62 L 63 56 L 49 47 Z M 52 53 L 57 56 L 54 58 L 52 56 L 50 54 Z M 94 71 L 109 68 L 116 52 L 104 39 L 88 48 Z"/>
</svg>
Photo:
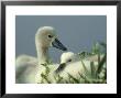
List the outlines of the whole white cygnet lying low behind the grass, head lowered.
<svg viewBox="0 0 121 98">
<path fill-rule="evenodd" d="M 86 59 L 81 59 L 85 63 L 85 66 L 88 70 L 90 70 L 90 62 L 95 62 L 95 66 L 98 64 L 96 61 L 98 57 L 97 55 L 89 56 Z M 102 57 L 102 56 L 101 56 Z M 50 70 L 46 74 L 46 67 L 40 67 L 38 75 L 36 77 L 36 83 L 44 83 L 44 84 L 61 84 L 68 80 L 68 74 L 78 78 L 80 77 L 79 74 L 84 74 L 85 69 L 82 63 L 78 54 L 74 54 L 73 52 L 63 53 L 61 56 L 61 63 L 47 66 Z M 43 68 L 43 69 L 42 69 Z M 41 74 L 45 75 L 42 77 Z M 57 81 L 58 75 L 63 78 L 61 81 Z"/>
</svg>

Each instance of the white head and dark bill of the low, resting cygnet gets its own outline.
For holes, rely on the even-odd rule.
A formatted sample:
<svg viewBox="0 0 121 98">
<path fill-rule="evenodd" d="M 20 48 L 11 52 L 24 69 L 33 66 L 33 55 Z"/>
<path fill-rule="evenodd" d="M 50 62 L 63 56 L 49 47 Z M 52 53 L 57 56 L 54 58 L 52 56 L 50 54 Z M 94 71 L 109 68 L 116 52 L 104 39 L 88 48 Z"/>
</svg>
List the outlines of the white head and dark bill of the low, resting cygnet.
<svg viewBox="0 0 121 98">
<path fill-rule="evenodd" d="M 74 54 L 73 52 L 63 53 L 61 56 L 61 64 L 55 73 L 62 72 L 67 65 L 79 61 L 79 55 Z"/>
</svg>

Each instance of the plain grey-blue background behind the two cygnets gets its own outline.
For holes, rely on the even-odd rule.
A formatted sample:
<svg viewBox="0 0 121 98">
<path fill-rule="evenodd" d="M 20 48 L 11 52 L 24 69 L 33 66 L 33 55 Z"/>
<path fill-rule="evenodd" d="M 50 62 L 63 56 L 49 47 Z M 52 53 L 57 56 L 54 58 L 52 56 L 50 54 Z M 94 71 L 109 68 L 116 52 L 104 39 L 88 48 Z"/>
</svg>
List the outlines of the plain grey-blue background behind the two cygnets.
<svg viewBox="0 0 121 98">
<path fill-rule="evenodd" d="M 106 15 L 16 15 L 15 17 L 15 55 L 36 56 L 35 33 L 40 26 L 53 26 L 59 41 L 74 53 L 90 51 L 96 42 L 107 41 Z M 54 62 L 59 61 L 63 52 L 51 47 Z"/>
</svg>

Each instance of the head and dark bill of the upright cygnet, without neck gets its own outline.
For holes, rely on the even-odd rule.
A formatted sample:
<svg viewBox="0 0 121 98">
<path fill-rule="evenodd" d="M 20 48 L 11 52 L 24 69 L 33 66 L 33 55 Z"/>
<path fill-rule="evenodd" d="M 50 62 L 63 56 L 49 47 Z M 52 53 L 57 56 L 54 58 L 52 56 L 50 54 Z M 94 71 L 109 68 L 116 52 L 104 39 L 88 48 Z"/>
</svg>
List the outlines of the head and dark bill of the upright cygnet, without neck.
<svg viewBox="0 0 121 98">
<path fill-rule="evenodd" d="M 57 40 L 56 31 L 52 26 L 42 26 L 35 35 L 35 43 L 42 48 L 50 46 L 66 51 L 67 48 Z"/>
</svg>

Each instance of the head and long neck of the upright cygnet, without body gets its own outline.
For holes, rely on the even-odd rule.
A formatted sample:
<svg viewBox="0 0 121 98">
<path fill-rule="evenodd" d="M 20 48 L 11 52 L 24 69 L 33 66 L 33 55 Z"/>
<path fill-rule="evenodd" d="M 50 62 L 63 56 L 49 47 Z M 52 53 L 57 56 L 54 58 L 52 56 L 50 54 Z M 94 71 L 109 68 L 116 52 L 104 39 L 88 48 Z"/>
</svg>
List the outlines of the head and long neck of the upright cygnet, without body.
<svg viewBox="0 0 121 98">
<path fill-rule="evenodd" d="M 67 51 L 67 48 L 58 41 L 56 31 L 52 26 L 43 26 L 37 30 L 37 33 L 35 34 L 35 45 L 38 64 L 48 62 L 48 47 L 51 46 Z"/>
</svg>

